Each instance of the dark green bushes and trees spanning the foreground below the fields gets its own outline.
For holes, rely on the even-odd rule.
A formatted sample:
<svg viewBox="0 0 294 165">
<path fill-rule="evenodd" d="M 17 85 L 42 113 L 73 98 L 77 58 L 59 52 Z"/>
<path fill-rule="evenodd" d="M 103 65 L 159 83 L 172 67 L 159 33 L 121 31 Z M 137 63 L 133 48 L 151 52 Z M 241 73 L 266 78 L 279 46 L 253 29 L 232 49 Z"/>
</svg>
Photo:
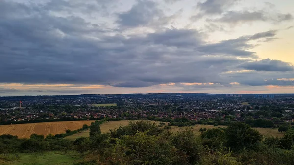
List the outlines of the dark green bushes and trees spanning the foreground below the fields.
<svg viewBox="0 0 294 165">
<path fill-rule="evenodd" d="M 109 134 L 101 134 L 93 123 L 90 138 L 53 137 L 2 135 L 0 153 L 76 150 L 83 161 L 75 165 L 294 165 L 293 129 L 282 138 L 263 138 L 239 122 L 203 130 L 200 136 L 190 128 L 172 133 L 155 123 L 133 121 Z"/>
</svg>

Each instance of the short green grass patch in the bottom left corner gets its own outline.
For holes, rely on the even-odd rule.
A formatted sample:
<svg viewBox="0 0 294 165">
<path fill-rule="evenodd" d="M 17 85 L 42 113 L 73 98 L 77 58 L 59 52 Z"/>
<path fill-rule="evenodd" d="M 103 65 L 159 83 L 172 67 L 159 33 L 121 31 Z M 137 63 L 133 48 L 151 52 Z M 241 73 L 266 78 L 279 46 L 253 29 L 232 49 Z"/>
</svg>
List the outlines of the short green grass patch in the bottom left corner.
<svg viewBox="0 0 294 165">
<path fill-rule="evenodd" d="M 81 158 L 75 152 L 16 153 L 7 157 L 15 160 L 0 160 L 0 165 L 74 165 Z"/>
</svg>

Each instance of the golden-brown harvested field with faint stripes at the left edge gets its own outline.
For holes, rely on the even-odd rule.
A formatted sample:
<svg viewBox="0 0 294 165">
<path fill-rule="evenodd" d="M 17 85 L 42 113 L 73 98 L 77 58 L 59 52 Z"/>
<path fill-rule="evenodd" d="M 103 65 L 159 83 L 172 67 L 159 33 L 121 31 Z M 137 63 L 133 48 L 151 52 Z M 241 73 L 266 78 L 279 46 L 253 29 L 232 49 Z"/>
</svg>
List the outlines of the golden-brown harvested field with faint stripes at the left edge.
<svg viewBox="0 0 294 165">
<path fill-rule="evenodd" d="M 0 135 L 11 134 L 17 135 L 19 138 L 29 138 L 31 134 L 61 134 L 65 133 L 65 129 L 77 130 L 84 124 L 91 125 L 94 121 L 60 121 L 60 122 L 42 122 L 30 124 L 13 124 L 1 125 Z"/>
</svg>

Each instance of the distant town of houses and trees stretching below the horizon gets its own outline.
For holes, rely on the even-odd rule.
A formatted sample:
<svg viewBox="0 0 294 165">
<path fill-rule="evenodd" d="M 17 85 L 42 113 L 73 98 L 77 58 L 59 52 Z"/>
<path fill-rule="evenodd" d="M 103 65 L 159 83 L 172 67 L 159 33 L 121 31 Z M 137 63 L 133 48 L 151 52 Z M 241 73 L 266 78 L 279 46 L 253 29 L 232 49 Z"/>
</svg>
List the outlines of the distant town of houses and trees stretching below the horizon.
<svg viewBox="0 0 294 165">
<path fill-rule="evenodd" d="M 0 122 L 185 118 L 201 124 L 294 123 L 294 94 L 115 94 L 0 97 Z M 258 125 L 255 121 L 266 124 Z M 260 124 L 260 123 L 259 123 Z"/>
</svg>

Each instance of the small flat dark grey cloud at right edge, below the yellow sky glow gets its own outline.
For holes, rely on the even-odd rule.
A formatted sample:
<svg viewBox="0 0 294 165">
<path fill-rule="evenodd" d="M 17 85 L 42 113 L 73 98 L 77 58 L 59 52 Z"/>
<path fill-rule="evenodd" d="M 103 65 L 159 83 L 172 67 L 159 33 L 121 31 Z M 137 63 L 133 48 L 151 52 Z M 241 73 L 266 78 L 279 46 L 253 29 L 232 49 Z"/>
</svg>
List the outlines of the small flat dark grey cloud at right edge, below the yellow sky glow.
<svg viewBox="0 0 294 165">
<path fill-rule="evenodd" d="M 240 65 L 239 67 L 255 71 L 294 71 L 294 67 L 289 63 L 270 59 L 248 62 Z"/>
</svg>

